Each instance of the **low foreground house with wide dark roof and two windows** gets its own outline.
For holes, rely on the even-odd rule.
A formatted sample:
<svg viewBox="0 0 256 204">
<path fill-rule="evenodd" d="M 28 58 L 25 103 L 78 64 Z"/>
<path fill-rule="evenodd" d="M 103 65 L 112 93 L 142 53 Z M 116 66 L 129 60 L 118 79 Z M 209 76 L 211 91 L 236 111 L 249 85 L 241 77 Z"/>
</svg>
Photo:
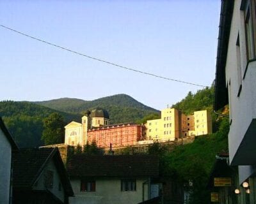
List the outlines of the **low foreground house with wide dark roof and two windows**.
<svg viewBox="0 0 256 204">
<path fill-rule="evenodd" d="M 75 196 L 70 203 L 140 203 L 159 196 L 156 156 L 75 155 L 67 164 Z"/>
</svg>

